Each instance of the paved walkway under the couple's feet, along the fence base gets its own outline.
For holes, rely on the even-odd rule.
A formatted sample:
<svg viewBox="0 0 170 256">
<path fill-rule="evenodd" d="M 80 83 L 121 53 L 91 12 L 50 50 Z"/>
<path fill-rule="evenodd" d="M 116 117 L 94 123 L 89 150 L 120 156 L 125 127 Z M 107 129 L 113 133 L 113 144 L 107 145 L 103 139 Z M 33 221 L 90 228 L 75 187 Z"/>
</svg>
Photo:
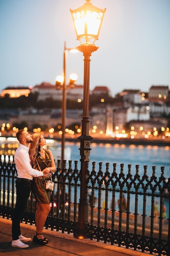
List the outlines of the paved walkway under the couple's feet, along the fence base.
<svg viewBox="0 0 170 256">
<path fill-rule="evenodd" d="M 35 226 L 21 223 L 22 235 L 31 237 L 35 235 Z M 146 256 L 131 249 L 95 242 L 95 240 L 74 238 L 72 234 L 44 229 L 45 237 L 49 243 L 45 246 L 28 242 L 28 248 L 11 247 L 11 220 L 0 218 L 0 256 Z"/>
</svg>

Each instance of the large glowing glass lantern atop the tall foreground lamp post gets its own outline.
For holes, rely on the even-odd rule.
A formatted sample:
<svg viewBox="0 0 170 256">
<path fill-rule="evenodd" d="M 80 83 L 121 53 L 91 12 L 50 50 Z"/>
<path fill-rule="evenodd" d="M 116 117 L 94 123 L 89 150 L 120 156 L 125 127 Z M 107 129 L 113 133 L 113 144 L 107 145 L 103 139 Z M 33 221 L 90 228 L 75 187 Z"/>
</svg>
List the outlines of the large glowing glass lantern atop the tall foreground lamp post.
<svg viewBox="0 0 170 256">
<path fill-rule="evenodd" d="M 86 3 L 75 9 L 71 10 L 73 23 L 77 40 L 81 42 L 81 38 L 86 40 L 85 44 L 90 43 L 90 39 L 98 40 L 100 28 L 104 18 L 105 9 L 99 9 L 90 3 L 91 0 L 86 0 Z M 81 42 L 82 43 L 82 42 Z"/>
</svg>

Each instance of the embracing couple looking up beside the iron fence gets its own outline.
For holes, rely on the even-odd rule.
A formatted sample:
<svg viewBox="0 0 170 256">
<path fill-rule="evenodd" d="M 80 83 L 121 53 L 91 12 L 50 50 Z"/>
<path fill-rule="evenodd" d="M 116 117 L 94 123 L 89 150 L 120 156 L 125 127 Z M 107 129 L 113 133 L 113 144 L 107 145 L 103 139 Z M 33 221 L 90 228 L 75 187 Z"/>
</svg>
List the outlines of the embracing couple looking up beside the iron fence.
<svg viewBox="0 0 170 256">
<path fill-rule="evenodd" d="M 33 242 L 46 245 L 48 239 L 43 236 L 43 228 L 50 211 L 51 191 L 46 190 L 46 180 L 51 180 L 51 174 L 56 171 L 51 150 L 45 150 L 46 140 L 40 133 L 30 135 L 26 130 L 16 134 L 19 147 L 15 151 L 14 162 L 17 170 L 16 204 L 12 216 L 12 247 L 26 248 L 26 242 L 31 238 L 22 236 L 20 220 L 24 212 L 31 189 L 37 202 L 35 213 L 36 234 Z"/>
</svg>

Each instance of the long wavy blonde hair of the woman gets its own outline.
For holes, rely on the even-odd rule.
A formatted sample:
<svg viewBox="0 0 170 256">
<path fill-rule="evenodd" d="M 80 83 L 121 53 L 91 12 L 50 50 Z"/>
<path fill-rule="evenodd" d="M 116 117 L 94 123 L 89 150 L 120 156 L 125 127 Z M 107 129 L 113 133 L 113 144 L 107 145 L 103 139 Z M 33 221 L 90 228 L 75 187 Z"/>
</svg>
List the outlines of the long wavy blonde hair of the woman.
<svg viewBox="0 0 170 256">
<path fill-rule="evenodd" d="M 40 133 L 34 133 L 32 135 L 32 139 L 33 141 L 30 143 L 30 146 L 29 146 L 29 157 L 31 159 L 31 165 L 33 168 L 36 167 L 37 165 L 37 162 L 36 162 L 36 159 L 37 159 L 37 156 L 38 156 L 38 146 L 40 144 L 40 140 L 41 140 L 41 134 Z"/>
</svg>

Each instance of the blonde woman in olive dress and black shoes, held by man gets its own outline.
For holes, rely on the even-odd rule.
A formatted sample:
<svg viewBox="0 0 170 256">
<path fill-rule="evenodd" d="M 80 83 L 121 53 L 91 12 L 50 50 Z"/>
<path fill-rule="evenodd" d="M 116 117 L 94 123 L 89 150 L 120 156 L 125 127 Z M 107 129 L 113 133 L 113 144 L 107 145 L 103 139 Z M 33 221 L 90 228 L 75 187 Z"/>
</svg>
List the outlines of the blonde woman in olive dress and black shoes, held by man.
<svg viewBox="0 0 170 256">
<path fill-rule="evenodd" d="M 29 155 L 31 165 L 33 168 L 42 171 L 46 169 L 46 173 L 53 173 L 56 170 L 53 154 L 51 150 L 45 150 L 43 146 L 46 145 L 46 139 L 40 134 L 32 135 L 33 142 L 29 148 Z M 50 211 L 50 197 L 51 192 L 45 189 L 45 182 L 47 178 L 33 178 L 32 190 L 37 202 L 37 209 L 35 213 L 36 235 L 33 242 L 40 245 L 46 245 L 48 240 L 42 235 L 46 218 Z"/>
</svg>

